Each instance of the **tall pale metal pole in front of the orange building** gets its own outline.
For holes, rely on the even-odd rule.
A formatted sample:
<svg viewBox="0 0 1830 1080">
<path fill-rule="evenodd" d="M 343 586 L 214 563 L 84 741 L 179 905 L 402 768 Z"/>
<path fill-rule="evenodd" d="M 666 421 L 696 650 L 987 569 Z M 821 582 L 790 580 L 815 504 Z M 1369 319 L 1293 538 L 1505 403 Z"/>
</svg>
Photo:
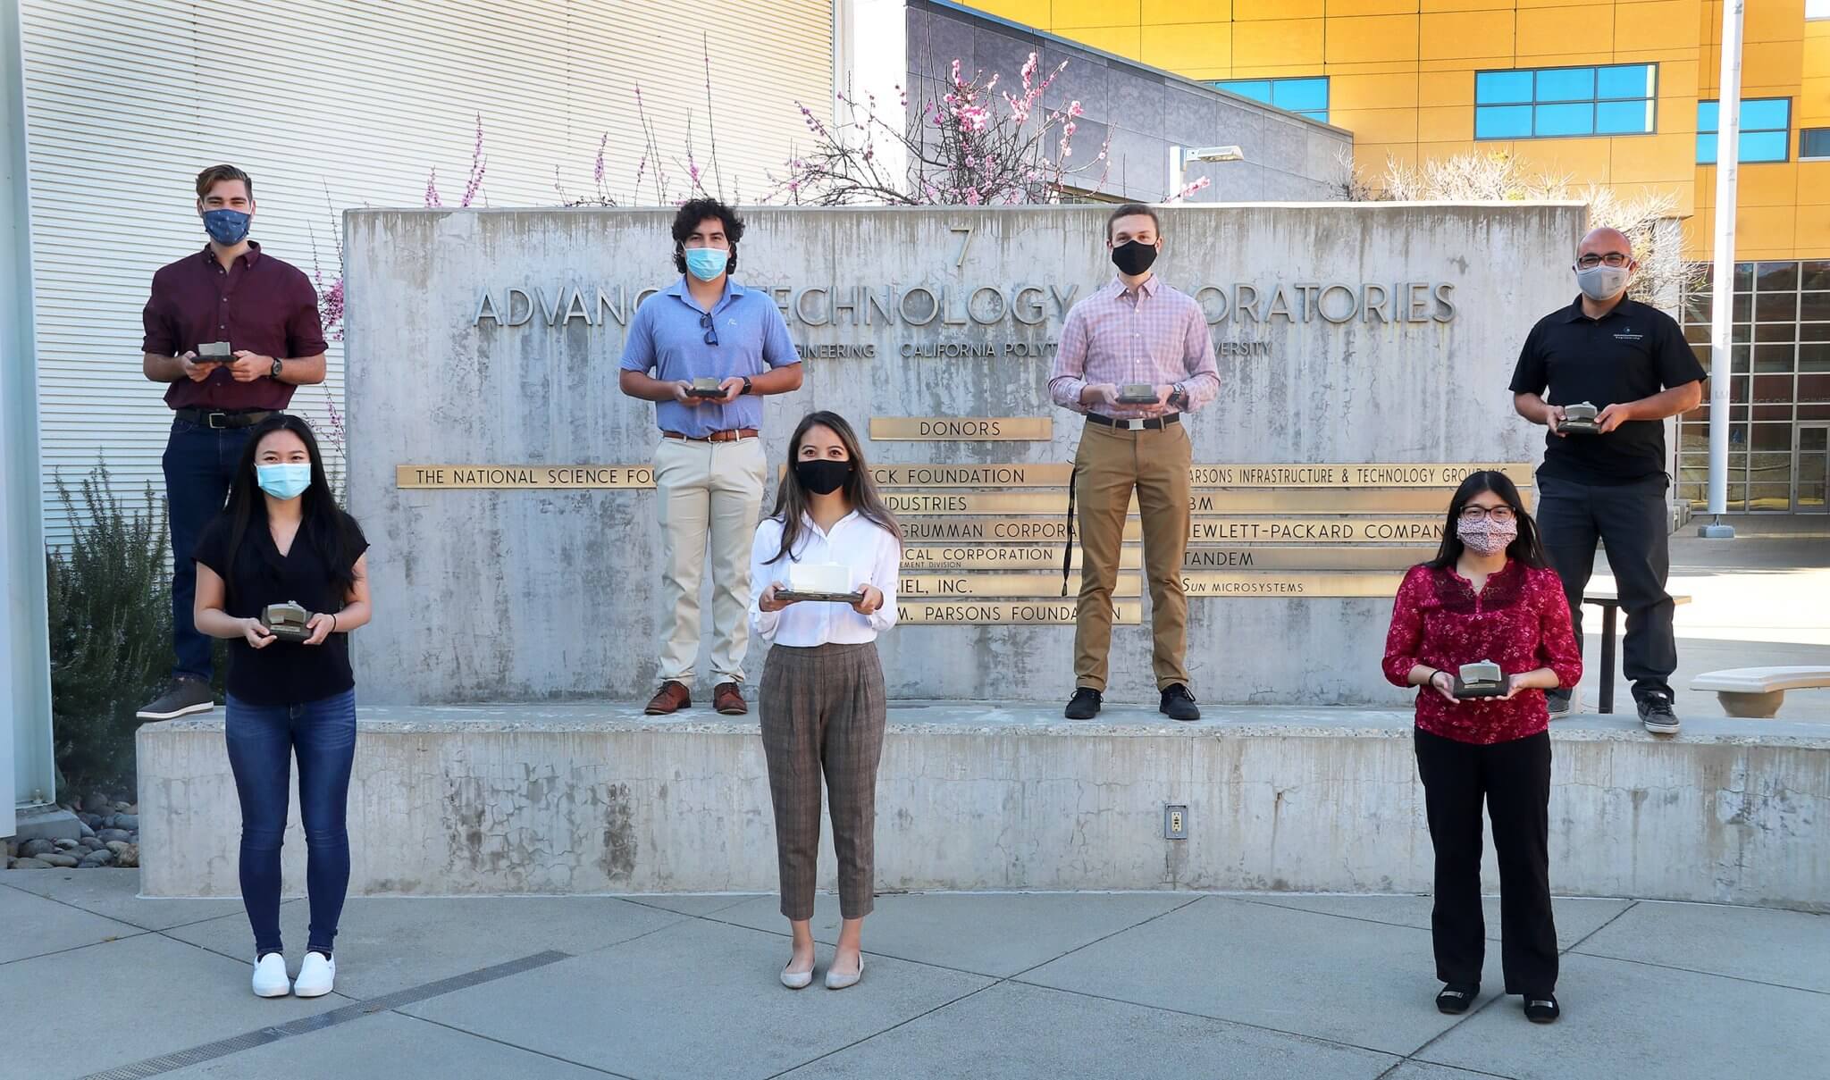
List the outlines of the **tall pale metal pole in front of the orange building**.
<svg viewBox="0 0 1830 1080">
<path fill-rule="evenodd" d="M 1709 514 L 1698 536 L 1733 540 L 1728 511 L 1728 392 L 1735 372 L 1735 181 L 1740 172 L 1740 16 L 1744 0 L 1722 4 L 1722 79 L 1717 93 L 1717 243 L 1709 289 Z"/>
</svg>

